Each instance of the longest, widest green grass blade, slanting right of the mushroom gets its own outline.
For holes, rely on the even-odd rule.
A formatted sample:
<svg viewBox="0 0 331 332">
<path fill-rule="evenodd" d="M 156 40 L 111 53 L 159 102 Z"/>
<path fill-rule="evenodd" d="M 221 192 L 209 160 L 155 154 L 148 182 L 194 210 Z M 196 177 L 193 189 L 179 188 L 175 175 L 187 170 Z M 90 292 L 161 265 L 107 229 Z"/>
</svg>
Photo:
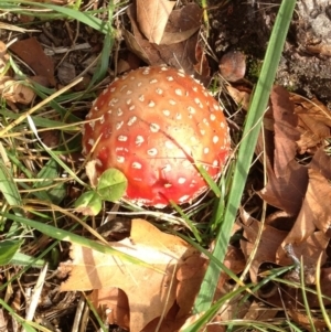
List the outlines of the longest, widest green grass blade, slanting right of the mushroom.
<svg viewBox="0 0 331 332">
<path fill-rule="evenodd" d="M 280 4 L 265 55 L 261 73 L 257 82 L 252 105 L 247 115 L 245 129 L 243 132 L 243 140 L 238 150 L 237 163 L 234 170 L 234 178 L 225 210 L 224 221 L 218 232 L 215 249 L 213 253 L 213 255 L 221 261 L 224 260 L 231 236 L 231 229 L 236 218 L 238 206 L 241 204 L 242 194 L 260 130 L 263 115 L 267 108 L 269 94 L 276 76 L 277 66 L 280 61 L 295 6 L 296 0 L 284 0 Z M 194 303 L 195 312 L 206 311 L 211 307 L 220 272 L 221 270 L 217 265 L 215 265 L 213 260 L 211 260 L 197 299 Z"/>
</svg>

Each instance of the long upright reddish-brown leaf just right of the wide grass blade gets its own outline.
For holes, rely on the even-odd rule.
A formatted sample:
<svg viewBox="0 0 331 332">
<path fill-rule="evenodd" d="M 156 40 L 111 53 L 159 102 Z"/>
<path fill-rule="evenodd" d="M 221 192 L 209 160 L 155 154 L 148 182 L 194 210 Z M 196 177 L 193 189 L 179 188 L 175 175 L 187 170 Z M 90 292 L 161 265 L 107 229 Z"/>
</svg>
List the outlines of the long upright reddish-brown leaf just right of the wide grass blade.
<svg viewBox="0 0 331 332">
<path fill-rule="evenodd" d="M 296 160 L 297 116 L 289 94 L 281 87 L 275 86 L 271 93 L 271 109 L 274 117 L 274 143 L 269 130 L 265 130 L 267 185 L 258 192 L 268 204 L 297 215 L 300 211 L 308 185 L 307 168 Z M 264 151 L 261 137 L 258 149 Z M 274 151 L 273 151 L 274 148 Z"/>
</svg>

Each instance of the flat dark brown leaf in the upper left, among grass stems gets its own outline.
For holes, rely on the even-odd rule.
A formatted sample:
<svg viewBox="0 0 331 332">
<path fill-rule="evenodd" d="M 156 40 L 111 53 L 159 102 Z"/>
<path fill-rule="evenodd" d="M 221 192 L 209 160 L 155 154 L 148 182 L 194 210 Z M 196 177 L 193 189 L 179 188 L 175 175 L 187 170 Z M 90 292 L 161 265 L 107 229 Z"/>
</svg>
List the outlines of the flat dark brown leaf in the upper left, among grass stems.
<svg viewBox="0 0 331 332">
<path fill-rule="evenodd" d="M 54 64 L 35 38 L 18 41 L 10 46 L 39 76 L 47 78 L 49 86 L 55 85 Z"/>
</svg>

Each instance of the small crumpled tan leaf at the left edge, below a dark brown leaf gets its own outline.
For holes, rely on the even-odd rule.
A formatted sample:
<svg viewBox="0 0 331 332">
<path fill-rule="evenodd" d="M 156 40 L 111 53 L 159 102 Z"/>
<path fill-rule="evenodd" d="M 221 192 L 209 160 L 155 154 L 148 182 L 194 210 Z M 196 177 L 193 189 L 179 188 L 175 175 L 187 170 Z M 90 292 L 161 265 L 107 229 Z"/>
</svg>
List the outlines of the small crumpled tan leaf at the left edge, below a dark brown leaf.
<svg viewBox="0 0 331 332">
<path fill-rule="evenodd" d="M 30 104 L 35 96 L 31 87 L 11 79 L 8 76 L 0 79 L 0 94 L 8 101 L 21 103 L 24 105 Z"/>
</svg>

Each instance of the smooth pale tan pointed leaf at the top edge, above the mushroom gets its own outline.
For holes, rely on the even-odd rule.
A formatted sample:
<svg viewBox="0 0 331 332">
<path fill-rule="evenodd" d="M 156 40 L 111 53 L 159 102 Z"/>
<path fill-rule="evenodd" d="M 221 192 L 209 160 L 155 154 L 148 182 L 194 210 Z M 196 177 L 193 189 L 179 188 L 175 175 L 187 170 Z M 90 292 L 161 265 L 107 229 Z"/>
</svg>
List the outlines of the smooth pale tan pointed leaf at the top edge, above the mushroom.
<svg viewBox="0 0 331 332">
<path fill-rule="evenodd" d="M 160 44 L 175 1 L 137 0 L 137 22 L 149 42 Z"/>
</svg>

